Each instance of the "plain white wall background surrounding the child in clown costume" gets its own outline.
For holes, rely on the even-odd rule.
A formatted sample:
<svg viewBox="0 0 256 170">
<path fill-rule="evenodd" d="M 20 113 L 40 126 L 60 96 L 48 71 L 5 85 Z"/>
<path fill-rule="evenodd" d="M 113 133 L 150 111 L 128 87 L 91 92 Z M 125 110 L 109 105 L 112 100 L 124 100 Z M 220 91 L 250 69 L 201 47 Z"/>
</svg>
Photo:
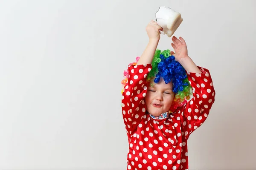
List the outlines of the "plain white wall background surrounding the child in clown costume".
<svg viewBox="0 0 256 170">
<path fill-rule="evenodd" d="M 122 74 L 159 6 L 216 91 L 190 170 L 256 169 L 255 0 L 0 0 L 0 170 L 126 169 Z"/>
</svg>

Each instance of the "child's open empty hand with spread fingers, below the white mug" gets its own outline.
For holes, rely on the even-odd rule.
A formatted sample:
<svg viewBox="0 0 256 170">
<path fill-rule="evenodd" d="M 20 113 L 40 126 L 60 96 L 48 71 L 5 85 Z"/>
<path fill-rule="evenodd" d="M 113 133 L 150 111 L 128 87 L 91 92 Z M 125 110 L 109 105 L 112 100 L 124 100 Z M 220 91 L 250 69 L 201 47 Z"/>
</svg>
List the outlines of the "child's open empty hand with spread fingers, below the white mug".
<svg viewBox="0 0 256 170">
<path fill-rule="evenodd" d="M 180 59 L 189 57 L 186 42 L 185 42 L 185 40 L 183 40 L 182 37 L 180 37 L 180 40 L 179 40 L 175 36 L 173 36 L 172 41 L 174 43 L 171 43 L 171 45 L 175 52 L 171 51 L 170 54 L 175 57 L 176 61 L 179 61 Z"/>
</svg>

